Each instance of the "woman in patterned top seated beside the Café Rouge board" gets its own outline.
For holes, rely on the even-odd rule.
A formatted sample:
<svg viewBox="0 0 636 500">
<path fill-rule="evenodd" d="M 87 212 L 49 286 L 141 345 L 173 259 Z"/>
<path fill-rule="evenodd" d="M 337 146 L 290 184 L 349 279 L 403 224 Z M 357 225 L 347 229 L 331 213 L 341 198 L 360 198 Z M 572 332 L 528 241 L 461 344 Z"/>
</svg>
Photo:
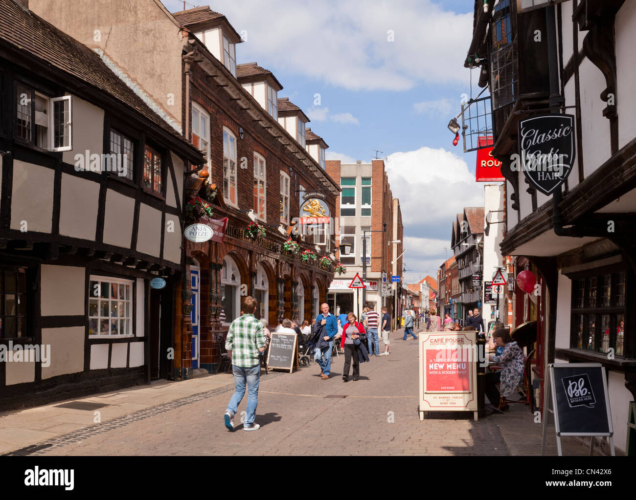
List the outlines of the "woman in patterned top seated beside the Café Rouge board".
<svg viewBox="0 0 636 500">
<path fill-rule="evenodd" d="M 510 338 L 506 328 L 497 328 L 492 333 L 496 347 L 504 348 L 501 356 L 490 356 L 490 360 L 501 366 L 501 370 L 486 374 L 486 395 L 490 403 L 500 410 L 507 410 L 508 403 L 499 405 L 501 398 L 513 393 L 523 377 L 525 356 L 518 344 Z M 499 391 L 497 391 L 499 382 Z"/>
</svg>

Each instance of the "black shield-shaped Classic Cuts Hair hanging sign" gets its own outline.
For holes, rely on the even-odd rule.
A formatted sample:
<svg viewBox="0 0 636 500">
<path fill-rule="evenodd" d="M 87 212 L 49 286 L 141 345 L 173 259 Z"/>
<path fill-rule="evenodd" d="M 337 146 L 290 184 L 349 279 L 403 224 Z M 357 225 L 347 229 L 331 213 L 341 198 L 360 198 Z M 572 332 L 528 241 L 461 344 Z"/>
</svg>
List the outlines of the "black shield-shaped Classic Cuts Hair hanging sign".
<svg viewBox="0 0 636 500">
<path fill-rule="evenodd" d="M 574 116 L 532 116 L 519 121 L 519 154 L 510 168 L 523 170 L 532 186 L 550 195 L 570 175 L 574 153 Z"/>
</svg>

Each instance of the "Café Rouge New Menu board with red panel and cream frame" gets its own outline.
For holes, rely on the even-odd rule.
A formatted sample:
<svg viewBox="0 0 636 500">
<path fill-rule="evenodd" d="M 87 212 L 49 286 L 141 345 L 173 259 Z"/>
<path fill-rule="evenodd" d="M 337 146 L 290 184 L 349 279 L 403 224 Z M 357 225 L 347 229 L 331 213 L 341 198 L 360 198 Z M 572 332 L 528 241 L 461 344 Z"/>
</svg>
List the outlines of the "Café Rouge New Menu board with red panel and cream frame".
<svg viewBox="0 0 636 500">
<path fill-rule="evenodd" d="M 476 332 L 422 332 L 419 342 L 420 412 L 472 411 L 476 419 Z"/>
</svg>

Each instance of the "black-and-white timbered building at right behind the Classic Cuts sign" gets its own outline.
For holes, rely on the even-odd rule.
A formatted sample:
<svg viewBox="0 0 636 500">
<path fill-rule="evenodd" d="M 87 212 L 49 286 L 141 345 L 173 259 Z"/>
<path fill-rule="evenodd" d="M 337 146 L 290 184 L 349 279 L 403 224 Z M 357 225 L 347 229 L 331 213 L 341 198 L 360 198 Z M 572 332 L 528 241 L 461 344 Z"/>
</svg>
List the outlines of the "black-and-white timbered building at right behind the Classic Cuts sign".
<svg viewBox="0 0 636 500">
<path fill-rule="evenodd" d="M 547 363 L 602 363 L 622 447 L 636 399 L 636 4 L 555 3 L 489 1 L 484 13 L 476 2 L 466 67 L 480 66 L 480 86 L 490 85 L 493 154 L 508 193 L 502 253 L 517 256 L 516 274 L 538 278 L 532 300 L 515 285 L 515 322 L 537 321 L 539 405 Z M 549 196 L 513 157 L 519 121 L 546 114 L 574 123 L 569 176 Z"/>
</svg>

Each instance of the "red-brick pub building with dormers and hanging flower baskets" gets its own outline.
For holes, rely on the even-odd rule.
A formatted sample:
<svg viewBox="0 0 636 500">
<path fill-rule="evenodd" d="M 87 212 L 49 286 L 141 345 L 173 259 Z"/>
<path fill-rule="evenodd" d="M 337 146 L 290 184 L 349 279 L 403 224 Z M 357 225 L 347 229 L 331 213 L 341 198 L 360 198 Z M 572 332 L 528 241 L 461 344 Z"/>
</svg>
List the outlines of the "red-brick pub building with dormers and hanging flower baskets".
<svg viewBox="0 0 636 500">
<path fill-rule="evenodd" d="M 308 151 L 301 133 L 305 114 L 281 102 L 279 115 L 282 85 L 272 72 L 237 64 L 241 39 L 228 19 L 207 6 L 171 14 L 159 1 L 78 0 L 73 17 L 50 0 L 32 0 L 31 8 L 97 51 L 208 159 L 202 171 L 175 180 L 186 208 L 192 201 L 211 208 L 195 210 L 190 222 L 213 227 L 216 236 L 184 240 L 176 316 L 163 346 L 174 348 L 173 376 L 214 370 L 242 295 L 259 299 L 258 315 L 270 325 L 317 313 L 333 278 L 333 266 L 323 260 L 322 267 L 319 259 L 335 241 L 322 219 L 311 238 L 296 234 L 307 232 L 297 231 L 296 223 L 306 206 L 301 201 L 312 201 L 328 217 L 335 213 L 339 187 L 321 166 L 320 145 L 315 156 Z M 301 191 L 307 199 L 300 199 Z M 250 219 L 265 236 L 248 234 Z M 320 243 L 315 233 L 322 233 Z M 300 252 L 283 251 L 289 237 Z M 301 260 L 304 250 L 317 259 Z"/>
</svg>

